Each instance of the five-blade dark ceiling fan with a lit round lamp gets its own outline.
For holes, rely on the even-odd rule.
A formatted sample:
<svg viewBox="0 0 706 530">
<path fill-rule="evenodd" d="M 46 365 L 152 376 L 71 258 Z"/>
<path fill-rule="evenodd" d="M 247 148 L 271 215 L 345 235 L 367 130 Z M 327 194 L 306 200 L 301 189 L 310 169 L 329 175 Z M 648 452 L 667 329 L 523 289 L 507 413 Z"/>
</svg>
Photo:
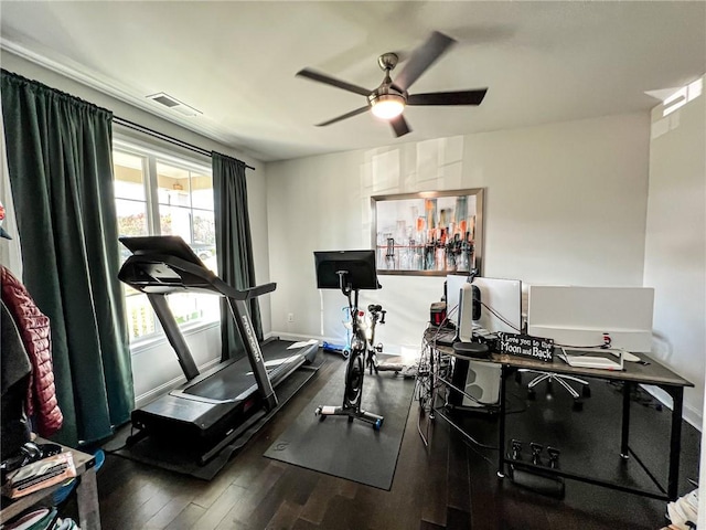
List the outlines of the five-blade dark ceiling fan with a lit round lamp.
<svg viewBox="0 0 706 530">
<path fill-rule="evenodd" d="M 413 52 L 409 61 L 395 77 L 395 81 L 391 78 L 389 73 L 397 65 L 399 57 L 396 53 L 384 53 L 377 59 L 377 64 L 385 72 L 385 78 L 374 91 L 336 80 L 310 68 L 303 68 L 297 72 L 297 75 L 360 94 L 367 99 L 364 107 L 317 124 L 318 127 L 335 124 L 336 121 L 357 116 L 370 109 L 375 116 L 389 120 L 395 136 L 400 137 L 411 130 L 402 114 L 407 105 L 480 105 L 483 97 L 485 97 L 488 88 L 432 92 L 428 94 L 409 94 L 407 92 L 413 83 L 453 43 L 456 43 L 456 41 L 450 36 L 435 31 L 420 47 Z"/>
</svg>

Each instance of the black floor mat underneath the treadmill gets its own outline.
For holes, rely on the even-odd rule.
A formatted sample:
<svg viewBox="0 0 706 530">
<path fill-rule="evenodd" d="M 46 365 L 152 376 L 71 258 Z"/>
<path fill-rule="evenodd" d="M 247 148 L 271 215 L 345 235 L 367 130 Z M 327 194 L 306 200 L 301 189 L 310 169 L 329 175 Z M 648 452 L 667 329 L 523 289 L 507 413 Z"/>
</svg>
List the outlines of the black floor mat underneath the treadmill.
<svg viewBox="0 0 706 530">
<path fill-rule="evenodd" d="M 311 365 L 304 365 L 292 372 L 276 389 L 275 393 L 279 401 L 277 409 L 270 411 L 243 433 L 238 438 L 234 439 L 229 445 L 225 446 L 216 456 L 206 464 L 199 464 L 199 455 L 189 451 L 189 447 L 179 447 L 176 441 L 173 444 L 165 445 L 159 443 L 149 436 L 130 445 L 126 445 L 126 439 L 130 435 L 131 426 L 122 427 L 103 449 L 111 455 L 121 456 L 130 460 L 160 467 L 182 475 L 191 475 L 192 477 L 204 480 L 212 480 L 221 469 L 228 463 L 231 457 L 237 453 L 254 435 L 257 433 L 277 412 L 289 401 L 289 399 L 301 389 L 315 373 L 321 361 L 317 360 Z"/>
</svg>

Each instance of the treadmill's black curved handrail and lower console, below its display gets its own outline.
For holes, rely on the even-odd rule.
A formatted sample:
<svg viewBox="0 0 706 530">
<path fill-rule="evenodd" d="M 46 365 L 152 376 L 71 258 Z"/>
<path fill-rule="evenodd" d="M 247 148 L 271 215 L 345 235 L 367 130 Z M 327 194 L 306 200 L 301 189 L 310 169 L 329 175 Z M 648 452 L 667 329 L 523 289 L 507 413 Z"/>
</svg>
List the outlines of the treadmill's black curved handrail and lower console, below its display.
<svg viewBox="0 0 706 530">
<path fill-rule="evenodd" d="M 158 265 L 164 264 L 170 269 L 174 271 L 179 276 L 181 282 L 174 280 L 160 280 L 158 277 L 146 274 L 145 279 L 137 279 L 135 277 L 129 277 L 131 271 L 130 267 L 140 267 L 140 265 Z M 271 293 L 277 288 L 277 284 L 271 282 L 268 284 L 258 285 L 255 287 L 248 287 L 246 289 L 236 289 L 232 287 L 223 279 L 221 279 L 213 271 L 206 268 L 203 265 L 195 264 L 192 262 L 188 262 L 186 259 L 182 259 L 176 256 L 170 256 L 168 254 L 159 254 L 159 253 L 140 253 L 133 254 L 126 259 L 118 273 L 118 278 L 131 287 L 140 290 L 142 293 L 150 293 L 154 289 L 150 289 L 149 287 L 158 287 L 160 293 L 164 292 L 183 292 L 190 290 L 189 284 L 183 282 L 183 275 L 179 272 L 183 271 L 188 274 L 196 276 L 206 282 L 207 285 L 194 285 L 191 286 L 192 289 L 206 289 L 212 290 L 215 294 L 227 296 L 229 298 L 236 300 L 248 300 L 255 298 L 260 295 L 265 295 L 267 293 Z M 132 275 L 133 276 L 133 275 Z"/>
</svg>

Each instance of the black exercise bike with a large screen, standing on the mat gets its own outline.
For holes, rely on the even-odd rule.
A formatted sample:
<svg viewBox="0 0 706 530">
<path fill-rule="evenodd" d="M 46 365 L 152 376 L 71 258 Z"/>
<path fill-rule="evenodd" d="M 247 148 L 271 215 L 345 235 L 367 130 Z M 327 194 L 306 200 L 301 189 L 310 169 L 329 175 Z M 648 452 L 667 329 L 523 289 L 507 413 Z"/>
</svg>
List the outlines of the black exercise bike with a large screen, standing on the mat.
<svg viewBox="0 0 706 530">
<path fill-rule="evenodd" d="M 314 258 L 318 287 L 332 288 L 334 274 L 338 277 L 338 288 L 347 298 L 350 315 L 353 316 L 343 404 L 321 405 L 317 407 L 315 414 L 320 416 L 320 421 L 325 420 L 327 416 L 347 416 L 349 423 L 355 418 L 362 420 L 371 423 L 375 431 L 379 431 L 385 418 L 361 407 L 365 377 L 364 362 L 368 358 L 371 341 L 362 326 L 363 321 L 357 307 L 360 289 L 381 287 L 375 273 L 375 254 L 373 251 L 314 252 Z M 379 315 L 379 311 L 376 311 L 376 315 Z"/>
</svg>

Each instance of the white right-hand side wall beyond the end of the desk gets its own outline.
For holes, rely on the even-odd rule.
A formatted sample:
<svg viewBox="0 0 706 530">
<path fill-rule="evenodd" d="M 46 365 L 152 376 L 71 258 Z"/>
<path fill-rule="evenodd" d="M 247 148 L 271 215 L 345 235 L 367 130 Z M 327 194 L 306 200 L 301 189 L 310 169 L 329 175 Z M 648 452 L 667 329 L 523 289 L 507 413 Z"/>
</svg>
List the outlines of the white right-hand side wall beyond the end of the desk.
<svg viewBox="0 0 706 530">
<path fill-rule="evenodd" d="M 685 416 L 700 427 L 706 361 L 706 102 L 652 112 L 644 285 L 654 287 L 655 356 L 696 388 Z"/>
</svg>

